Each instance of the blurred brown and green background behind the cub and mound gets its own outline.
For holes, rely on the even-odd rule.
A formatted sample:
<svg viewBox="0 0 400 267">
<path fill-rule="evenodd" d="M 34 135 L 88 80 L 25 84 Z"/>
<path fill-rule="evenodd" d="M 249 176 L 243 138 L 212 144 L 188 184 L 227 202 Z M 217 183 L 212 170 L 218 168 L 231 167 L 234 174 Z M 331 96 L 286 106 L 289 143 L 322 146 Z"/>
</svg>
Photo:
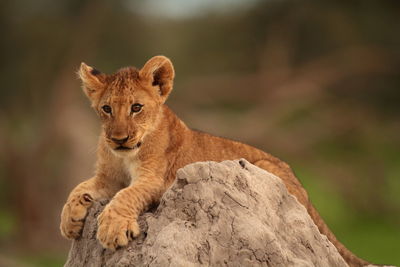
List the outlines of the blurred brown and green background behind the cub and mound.
<svg viewBox="0 0 400 267">
<path fill-rule="evenodd" d="M 400 1 L 2 0 L 0 266 L 60 266 L 93 172 L 76 78 L 164 54 L 191 127 L 288 162 L 354 253 L 400 265 Z"/>
</svg>

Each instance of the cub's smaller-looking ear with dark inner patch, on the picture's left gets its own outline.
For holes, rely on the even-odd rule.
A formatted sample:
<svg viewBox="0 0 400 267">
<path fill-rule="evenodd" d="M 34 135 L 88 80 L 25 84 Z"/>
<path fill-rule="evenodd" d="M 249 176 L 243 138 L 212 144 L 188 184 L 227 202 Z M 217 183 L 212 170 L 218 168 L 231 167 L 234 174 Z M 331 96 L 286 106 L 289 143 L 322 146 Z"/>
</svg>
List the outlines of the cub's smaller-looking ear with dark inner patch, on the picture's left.
<svg viewBox="0 0 400 267">
<path fill-rule="evenodd" d="M 105 88 L 104 77 L 100 71 L 81 63 L 78 71 L 79 78 L 82 80 L 83 91 L 92 101 L 98 100 Z"/>
</svg>

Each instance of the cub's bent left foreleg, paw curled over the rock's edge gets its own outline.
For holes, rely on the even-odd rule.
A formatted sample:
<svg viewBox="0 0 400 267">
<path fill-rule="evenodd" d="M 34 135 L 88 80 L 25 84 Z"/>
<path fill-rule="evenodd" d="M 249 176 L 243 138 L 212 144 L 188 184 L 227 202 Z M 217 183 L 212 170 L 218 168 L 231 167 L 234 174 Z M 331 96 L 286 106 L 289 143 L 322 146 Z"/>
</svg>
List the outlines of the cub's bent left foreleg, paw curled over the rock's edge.
<svg viewBox="0 0 400 267">
<path fill-rule="evenodd" d="M 94 200 L 111 197 L 112 191 L 97 177 L 93 177 L 75 187 L 69 194 L 61 212 L 60 230 L 62 236 L 67 239 L 80 237 L 88 208 Z"/>
</svg>

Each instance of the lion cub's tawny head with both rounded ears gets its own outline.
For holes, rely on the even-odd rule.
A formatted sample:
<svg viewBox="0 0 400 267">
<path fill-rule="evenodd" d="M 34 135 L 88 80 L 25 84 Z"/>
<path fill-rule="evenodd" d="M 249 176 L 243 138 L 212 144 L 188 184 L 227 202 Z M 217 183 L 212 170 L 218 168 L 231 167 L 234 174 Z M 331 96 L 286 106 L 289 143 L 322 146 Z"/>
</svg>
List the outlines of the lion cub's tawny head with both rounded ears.
<svg viewBox="0 0 400 267">
<path fill-rule="evenodd" d="M 141 70 L 128 67 L 111 75 L 82 63 L 79 77 L 101 119 L 108 146 L 124 155 L 140 147 L 157 124 L 172 90 L 174 68 L 164 56 L 151 58 Z"/>
</svg>

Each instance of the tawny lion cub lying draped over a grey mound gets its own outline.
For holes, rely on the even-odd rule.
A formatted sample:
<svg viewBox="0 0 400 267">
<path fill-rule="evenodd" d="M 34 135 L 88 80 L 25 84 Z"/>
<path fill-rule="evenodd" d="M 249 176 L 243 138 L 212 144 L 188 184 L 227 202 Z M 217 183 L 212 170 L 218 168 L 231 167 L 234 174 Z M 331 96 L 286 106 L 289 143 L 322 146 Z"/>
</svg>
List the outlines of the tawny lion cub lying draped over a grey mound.
<svg viewBox="0 0 400 267">
<path fill-rule="evenodd" d="M 286 163 L 249 145 L 193 131 L 164 104 L 174 80 L 168 58 L 156 56 L 140 70 L 123 68 L 112 75 L 82 63 L 79 76 L 102 131 L 94 177 L 72 190 L 62 210 L 64 237 L 78 238 L 92 202 L 108 198 L 98 216 L 97 238 L 112 250 L 126 246 L 139 234 L 137 217 L 160 199 L 179 168 L 246 158 L 283 180 L 349 263 L 364 263 L 336 240 Z"/>
</svg>

